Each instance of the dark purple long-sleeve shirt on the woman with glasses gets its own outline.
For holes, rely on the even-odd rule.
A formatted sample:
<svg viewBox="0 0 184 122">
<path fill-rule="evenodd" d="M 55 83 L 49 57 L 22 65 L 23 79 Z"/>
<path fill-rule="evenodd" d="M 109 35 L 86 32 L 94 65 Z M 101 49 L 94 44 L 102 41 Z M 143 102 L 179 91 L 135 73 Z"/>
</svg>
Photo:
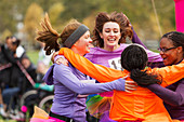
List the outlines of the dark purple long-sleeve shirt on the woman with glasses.
<svg viewBox="0 0 184 122">
<path fill-rule="evenodd" d="M 148 89 L 165 101 L 172 119 L 184 120 L 184 79 L 167 86 L 167 89 L 158 84 L 152 84 Z"/>
</svg>

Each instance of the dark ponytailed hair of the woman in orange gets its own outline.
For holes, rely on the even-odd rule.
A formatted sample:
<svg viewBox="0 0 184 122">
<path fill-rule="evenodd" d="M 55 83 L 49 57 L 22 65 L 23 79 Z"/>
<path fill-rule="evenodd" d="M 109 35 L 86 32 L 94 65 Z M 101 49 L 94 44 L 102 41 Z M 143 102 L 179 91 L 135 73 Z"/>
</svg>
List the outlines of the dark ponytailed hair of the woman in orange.
<svg viewBox="0 0 184 122">
<path fill-rule="evenodd" d="M 161 83 L 160 77 L 147 73 L 144 68 L 147 64 L 147 53 L 137 44 L 129 45 L 121 53 L 121 66 L 130 71 L 130 78 L 140 86 L 147 86 L 149 84 Z"/>
</svg>

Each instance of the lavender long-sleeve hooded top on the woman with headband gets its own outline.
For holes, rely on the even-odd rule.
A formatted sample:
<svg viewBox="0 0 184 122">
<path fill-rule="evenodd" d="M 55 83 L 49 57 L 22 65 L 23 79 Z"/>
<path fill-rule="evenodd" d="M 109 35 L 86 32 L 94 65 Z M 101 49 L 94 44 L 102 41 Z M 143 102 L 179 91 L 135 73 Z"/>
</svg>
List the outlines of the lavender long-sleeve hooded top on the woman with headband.
<svg viewBox="0 0 184 122">
<path fill-rule="evenodd" d="M 50 67 L 43 81 L 54 84 L 54 99 L 51 111 L 74 119 L 76 122 L 86 122 L 86 96 L 79 94 L 93 94 L 106 91 L 124 90 L 124 82 L 116 80 L 111 83 L 82 83 L 86 74 L 78 69 L 63 64 Z"/>
</svg>

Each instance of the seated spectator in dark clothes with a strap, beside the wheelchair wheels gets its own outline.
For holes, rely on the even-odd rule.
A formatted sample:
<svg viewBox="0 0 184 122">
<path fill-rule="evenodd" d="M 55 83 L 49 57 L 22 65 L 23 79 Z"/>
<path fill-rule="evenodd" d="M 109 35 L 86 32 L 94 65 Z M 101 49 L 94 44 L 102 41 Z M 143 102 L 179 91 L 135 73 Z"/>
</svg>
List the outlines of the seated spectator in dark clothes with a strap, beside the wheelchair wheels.
<svg viewBox="0 0 184 122">
<path fill-rule="evenodd" d="M 12 64 L 11 72 L 10 72 L 10 81 L 5 84 L 5 89 L 2 91 L 3 101 L 8 105 L 9 111 L 14 111 L 16 101 L 13 100 L 19 93 L 24 93 L 25 91 L 31 87 L 29 80 L 27 79 L 29 76 L 35 81 L 36 77 L 36 68 L 30 63 L 30 59 L 27 57 L 24 48 L 21 45 L 21 40 L 12 37 L 10 38 L 10 56 L 8 57 L 8 52 L 4 53 L 4 56 L 8 57 L 8 62 Z M 27 73 L 25 73 L 27 72 Z M 12 100 L 11 100 L 12 99 Z M 10 106 L 10 101 L 11 104 Z M 15 118 L 14 114 L 10 114 L 11 118 Z"/>
</svg>

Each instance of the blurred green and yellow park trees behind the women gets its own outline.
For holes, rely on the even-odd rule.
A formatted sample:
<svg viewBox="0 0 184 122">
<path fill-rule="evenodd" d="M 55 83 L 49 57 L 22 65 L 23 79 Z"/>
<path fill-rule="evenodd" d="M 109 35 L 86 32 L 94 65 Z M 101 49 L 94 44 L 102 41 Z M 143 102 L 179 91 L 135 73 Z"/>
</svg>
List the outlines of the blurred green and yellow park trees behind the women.
<svg viewBox="0 0 184 122">
<path fill-rule="evenodd" d="M 156 51 L 160 37 L 175 30 L 174 5 L 173 0 L 0 0 L 0 43 L 8 36 L 16 36 L 36 65 L 39 51 L 36 29 L 40 29 L 45 12 L 53 28 L 62 32 L 71 18 L 92 31 L 98 12 L 117 11 L 129 17 L 143 43 Z"/>
</svg>

